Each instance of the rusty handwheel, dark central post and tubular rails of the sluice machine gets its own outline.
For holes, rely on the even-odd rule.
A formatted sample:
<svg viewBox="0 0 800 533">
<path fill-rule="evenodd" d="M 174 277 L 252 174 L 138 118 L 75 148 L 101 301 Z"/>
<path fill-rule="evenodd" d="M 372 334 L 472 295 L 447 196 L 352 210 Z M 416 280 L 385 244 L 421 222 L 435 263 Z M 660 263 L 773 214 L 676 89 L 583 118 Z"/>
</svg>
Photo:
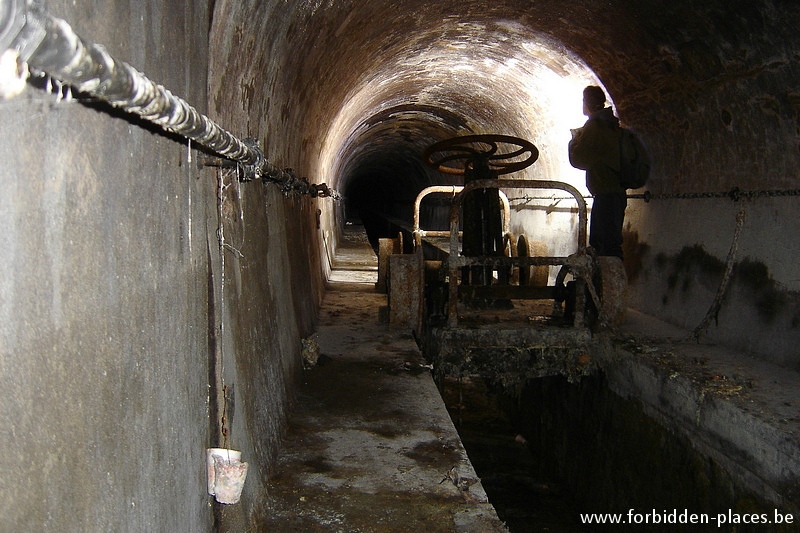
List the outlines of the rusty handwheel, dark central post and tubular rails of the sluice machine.
<svg viewBox="0 0 800 533">
<path fill-rule="evenodd" d="M 500 175 L 530 166 L 538 155 L 532 143 L 507 135 L 456 137 L 436 143 L 424 152 L 423 158 L 432 168 L 464 176 L 463 187 L 442 190 L 433 187 L 423 191 L 452 194 L 449 232 L 429 234 L 422 231 L 416 218 L 422 194 L 415 206 L 416 240 L 421 241 L 433 233 L 436 237 L 440 237 L 440 233 L 449 234 L 448 258 L 442 265 L 447 272 L 438 278 L 448 279 L 446 315 L 450 327 L 458 325 L 459 302 L 481 307 L 511 300 L 567 300 L 565 303 L 572 316 L 569 321 L 576 327 L 583 327 L 586 292 L 599 307 L 599 297 L 592 284 L 594 261 L 587 253 L 588 216 L 583 196 L 571 185 L 559 181 L 499 179 Z M 515 239 L 508 231 L 508 222 L 503 224 L 501 188 L 558 189 L 574 198 L 578 206 L 575 253 L 550 257 L 546 249 L 543 252 L 540 247 L 538 253 L 531 254 L 532 246 L 527 239 L 522 235 Z M 459 232 L 462 227 L 463 232 Z M 550 266 L 561 267 L 553 286 L 547 286 Z M 537 277 L 536 282 L 531 274 Z M 568 274 L 574 278 L 575 287 L 566 293 L 564 278 Z"/>
</svg>

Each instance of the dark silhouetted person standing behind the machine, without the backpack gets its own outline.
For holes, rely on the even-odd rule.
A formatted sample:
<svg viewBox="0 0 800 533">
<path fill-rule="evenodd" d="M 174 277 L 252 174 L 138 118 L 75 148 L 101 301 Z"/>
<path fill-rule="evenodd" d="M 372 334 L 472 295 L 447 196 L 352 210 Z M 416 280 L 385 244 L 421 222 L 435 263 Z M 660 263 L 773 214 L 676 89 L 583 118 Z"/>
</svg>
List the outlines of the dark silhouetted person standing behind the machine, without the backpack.
<svg viewBox="0 0 800 533">
<path fill-rule="evenodd" d="M 583 90 L 582 128 L 572 130 L 569 162 L 586 171 L 586 186 L 594 196 L 589 223 L 589 246 L 598 256 L 622 259 L 622 222 L 628 199 L 620 185 L 619 119 L 605 106 L 603 89 Z"/>
</svg>

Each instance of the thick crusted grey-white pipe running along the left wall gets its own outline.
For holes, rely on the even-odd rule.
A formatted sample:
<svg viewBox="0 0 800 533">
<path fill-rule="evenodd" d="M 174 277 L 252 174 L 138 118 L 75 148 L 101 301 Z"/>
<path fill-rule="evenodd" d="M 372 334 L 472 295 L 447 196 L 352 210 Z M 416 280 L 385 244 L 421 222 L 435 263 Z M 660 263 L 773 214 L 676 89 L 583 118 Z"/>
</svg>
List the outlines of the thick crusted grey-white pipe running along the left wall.
<svg viewBox="0 0 800 533">
<path fill-rule="evenodd" d="M 27 81 L 45 80 L 66 89 L 66 101 L 103 102 L 160 127 L 214 157 L 201 164 L 236 167 L 242 181 L 277 183 L 284 193 L 340 199 L 325 183 L 297 178 L 264 158 L 258 140 L 239 139 L 188 102 L 142 72 L 111 56 L 105 47 L 83 40 L 64 20 L 49 15 L 39 2 L 0 2 L 0 99 L 21 94 Z M 81 97 L 72 98 L 72 88 Z M 87 99 L 90 99 L 88 100 Z"/>
</svg>

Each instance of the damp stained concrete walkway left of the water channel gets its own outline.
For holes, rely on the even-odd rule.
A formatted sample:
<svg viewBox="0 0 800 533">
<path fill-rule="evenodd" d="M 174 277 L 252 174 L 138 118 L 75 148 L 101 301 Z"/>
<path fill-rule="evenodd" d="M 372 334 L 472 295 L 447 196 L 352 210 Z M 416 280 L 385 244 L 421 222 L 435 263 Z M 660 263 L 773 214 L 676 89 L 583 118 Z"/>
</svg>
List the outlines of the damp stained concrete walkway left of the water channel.
<svg viewBox="0 0 800 533">
<path fill-rule="evenodd" d="M 330 284 L 259 531 L 502 532 L 408 329 Z"/>
</svg>

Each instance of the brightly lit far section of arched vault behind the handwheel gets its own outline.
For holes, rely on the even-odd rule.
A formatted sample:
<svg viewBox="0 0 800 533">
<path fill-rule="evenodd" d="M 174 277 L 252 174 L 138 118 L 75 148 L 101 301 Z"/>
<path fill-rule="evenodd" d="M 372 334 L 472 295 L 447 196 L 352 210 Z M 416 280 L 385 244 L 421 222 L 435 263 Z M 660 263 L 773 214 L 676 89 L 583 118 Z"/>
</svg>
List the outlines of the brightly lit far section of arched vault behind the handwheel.
<svg viewBox="0 0 800 533">
<path fill-rule="evenodd" d="M 423 151 L 445 138 L 522 137 L 543 155 L 533 172 L 559 176 L 569 128 L 582 122 L 580 91 L 595 82 L 559 43 L 515 21 L 448 18 L 348 95 L 329 133 L 335 152 L 321 162 L 349 201 L 405 219 L 423 187 L 460 182 L 423 165 Z"/>
</svg>

